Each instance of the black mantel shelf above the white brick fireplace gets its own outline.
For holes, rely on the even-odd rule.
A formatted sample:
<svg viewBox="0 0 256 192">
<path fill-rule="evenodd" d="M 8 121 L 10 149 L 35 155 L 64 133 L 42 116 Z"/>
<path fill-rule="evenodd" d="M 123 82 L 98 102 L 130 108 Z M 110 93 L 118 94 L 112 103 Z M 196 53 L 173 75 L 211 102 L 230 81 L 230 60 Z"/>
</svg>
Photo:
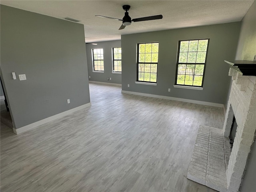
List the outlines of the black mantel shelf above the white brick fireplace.
<svg viewBox="0 0 256 192">
<path fill-rule="evenodd" d="M 228 63 L 231 68 L 241 75 L 256 76 L 256 62 L 254 61 L 235 60 L 234 62 L 229 62 L 224 60 L 224 62 Z"/>
</svg>

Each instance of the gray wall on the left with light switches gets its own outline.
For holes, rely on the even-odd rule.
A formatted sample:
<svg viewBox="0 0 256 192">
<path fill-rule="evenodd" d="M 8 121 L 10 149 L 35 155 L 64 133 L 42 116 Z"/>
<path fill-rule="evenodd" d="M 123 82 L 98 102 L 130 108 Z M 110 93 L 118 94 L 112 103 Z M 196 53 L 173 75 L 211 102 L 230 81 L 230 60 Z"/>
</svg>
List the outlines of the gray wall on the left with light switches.
<svg viewBox="0 0 256 192">
<path fill-rule="evenodd" d="M 1 77 L 14 128 L 89 103 L 84 26 L 1 5 Z"/>
</svg>

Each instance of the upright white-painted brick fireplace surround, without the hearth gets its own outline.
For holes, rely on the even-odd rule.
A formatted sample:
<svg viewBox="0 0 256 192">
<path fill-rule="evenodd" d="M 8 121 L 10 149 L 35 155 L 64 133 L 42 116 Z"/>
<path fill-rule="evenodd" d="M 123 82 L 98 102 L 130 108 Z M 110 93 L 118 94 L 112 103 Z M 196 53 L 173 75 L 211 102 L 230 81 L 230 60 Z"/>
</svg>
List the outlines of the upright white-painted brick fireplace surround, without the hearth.
<svg viewBox="0 0 256 192">
<path fill-rule="evenodd" d="M 237 129 L 232 152 L 226 167 L 227 191 L 239 190 L 246 163 L 255 140 L 256 131 L 256 76 L 242 76 L 230 68 L 232 87 L 223 126 L 224 137 L 228 138 L 236 118 Z"/>
</svg>

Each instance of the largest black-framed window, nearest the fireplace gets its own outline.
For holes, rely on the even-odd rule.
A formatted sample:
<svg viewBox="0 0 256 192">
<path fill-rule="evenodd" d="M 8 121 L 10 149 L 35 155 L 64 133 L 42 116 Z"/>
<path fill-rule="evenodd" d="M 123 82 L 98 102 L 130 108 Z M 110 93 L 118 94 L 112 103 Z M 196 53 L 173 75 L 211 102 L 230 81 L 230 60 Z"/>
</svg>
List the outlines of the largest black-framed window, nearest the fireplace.
<svg viewBox="0 0 256 192">
<path fill-rule="evenodd" d="M 176 85 L 202 87 L 209 39 L 179 41 Z"/>
</svg>

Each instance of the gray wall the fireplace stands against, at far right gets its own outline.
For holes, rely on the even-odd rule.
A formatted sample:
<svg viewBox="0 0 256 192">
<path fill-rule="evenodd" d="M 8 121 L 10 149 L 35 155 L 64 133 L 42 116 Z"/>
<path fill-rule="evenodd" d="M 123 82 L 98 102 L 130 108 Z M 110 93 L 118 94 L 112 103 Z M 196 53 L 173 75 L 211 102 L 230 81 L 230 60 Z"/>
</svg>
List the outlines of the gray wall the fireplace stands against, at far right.
<svg viewBox="0 0 256 192">
<path fill-rule="evenodd" d="M 252 4 L 242 20 L 239 43 L 236 53 L 238 60 L 253 60 L 256 55 L 256 2 Z M 256 190 L 256 144 L 252 145 L 252 151 L 246 166 L 241 192 L 252 192 Z"/>
</svg>

